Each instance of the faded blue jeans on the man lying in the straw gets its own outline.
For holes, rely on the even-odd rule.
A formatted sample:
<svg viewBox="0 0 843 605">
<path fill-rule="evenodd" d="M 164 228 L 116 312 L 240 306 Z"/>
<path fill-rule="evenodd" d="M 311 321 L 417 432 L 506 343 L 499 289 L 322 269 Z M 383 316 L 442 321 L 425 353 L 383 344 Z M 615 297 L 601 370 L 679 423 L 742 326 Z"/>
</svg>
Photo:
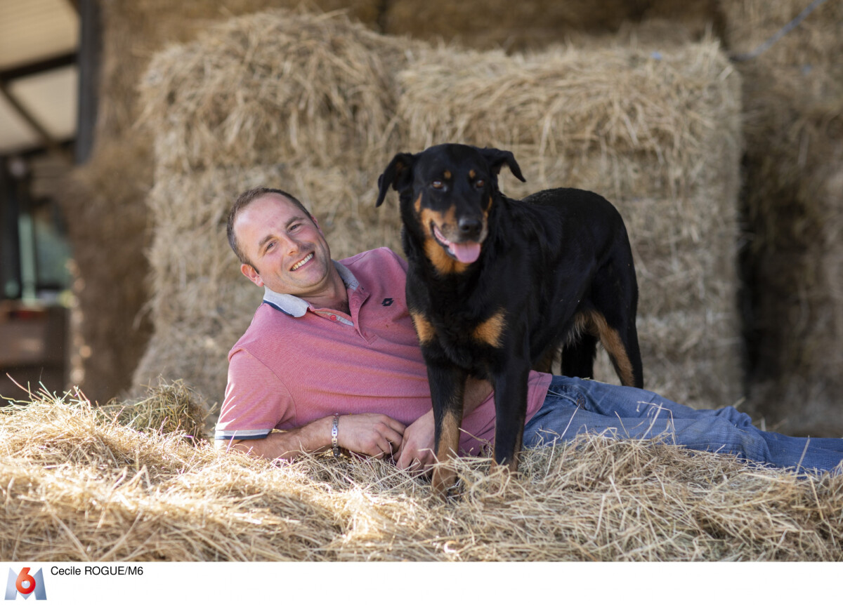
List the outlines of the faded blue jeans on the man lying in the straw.
<svg viewBox="0 0 843 605">
<path fill-rule="evenodd" d="M 556 438 L 604 433 L 630 439 L 658 437 L 705 452 L 732 453 L 781 468 L 835 468 L 843 439 L 792 437 L 761 431 L 733 407 L 694 410 L 638 388 L 555 376 L 540 410 L 524 426 L 524 447 Z"/>
</svg>

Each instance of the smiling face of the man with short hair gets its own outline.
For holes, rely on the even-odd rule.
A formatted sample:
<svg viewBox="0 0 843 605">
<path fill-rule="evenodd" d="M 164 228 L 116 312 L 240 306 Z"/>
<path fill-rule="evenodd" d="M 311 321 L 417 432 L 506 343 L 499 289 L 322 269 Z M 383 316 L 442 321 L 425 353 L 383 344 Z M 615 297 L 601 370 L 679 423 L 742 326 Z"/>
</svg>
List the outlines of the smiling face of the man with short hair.
<svg viewBox="0 0 843 605">
<path fill-rule="evenodd" d="M 234 221 L 239 248 L 251 265 L 240 265 L 257 286 L 309 299 L 330 284 L 333 265 L 325 236 L 312 217 L 284 196 L 268 193 Z"/>
</svg>

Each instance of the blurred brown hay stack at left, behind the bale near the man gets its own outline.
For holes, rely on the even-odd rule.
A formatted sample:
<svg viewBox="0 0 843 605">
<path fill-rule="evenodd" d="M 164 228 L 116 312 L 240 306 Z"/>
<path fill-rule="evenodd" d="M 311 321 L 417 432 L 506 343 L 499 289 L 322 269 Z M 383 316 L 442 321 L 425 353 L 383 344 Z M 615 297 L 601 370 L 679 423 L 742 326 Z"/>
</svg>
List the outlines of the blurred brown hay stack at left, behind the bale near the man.
<svg viewBox="0 0 843 605">
<path fill-rule="evenodd" d="M 153 322 L 144 305 L 150 268 L 144 256 L 152 239 L 144 203 L 153 185 L 153 141 L 134 127 L 142 104 L 137 83 L 154 52 L 192 40 L 213 21 L 299 0 L 102 0 L 102 59 L 98 115 L 91 157 L 73 174 L 60 201 L 78 266 L 81 315 L 74 340 L 83 351 L 72 380 L 93 399 L 106 401 L 132 383 Z M 347 8 L 375 24 L 378 0 L 313 0 L 316 8 Z"/>
</svg>

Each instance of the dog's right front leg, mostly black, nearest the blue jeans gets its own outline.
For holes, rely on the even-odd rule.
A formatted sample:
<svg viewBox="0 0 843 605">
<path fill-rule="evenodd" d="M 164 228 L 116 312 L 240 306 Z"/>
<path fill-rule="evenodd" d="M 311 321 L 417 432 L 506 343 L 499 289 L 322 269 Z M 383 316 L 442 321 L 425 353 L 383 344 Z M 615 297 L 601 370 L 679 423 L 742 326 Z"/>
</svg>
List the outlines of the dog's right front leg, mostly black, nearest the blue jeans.
<svg viewBox="0 0 843 605">
<path fill-rule="evenodd" d="M 527 415 L 529 364 L 511 360 L 494 376 L 495 385 L 495 463 L 518 470 L 518 452 L 524 437 Z"/>
</svg>

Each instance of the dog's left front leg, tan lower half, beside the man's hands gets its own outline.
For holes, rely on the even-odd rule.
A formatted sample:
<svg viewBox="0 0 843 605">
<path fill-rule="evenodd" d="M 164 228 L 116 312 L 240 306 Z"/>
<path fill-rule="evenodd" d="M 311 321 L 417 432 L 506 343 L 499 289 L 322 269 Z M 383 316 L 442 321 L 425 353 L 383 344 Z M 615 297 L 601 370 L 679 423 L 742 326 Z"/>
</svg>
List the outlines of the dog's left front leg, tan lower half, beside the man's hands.
<svg viewBox="0 0 843 605">
<path fill-rule="evenodd" d="M 433 402 L 436 458 L 446 462 L 459 452 L 459 426 L 463 421 L 463 398 L 468 373 L 448 363 L 427 364 L 427 378 Z M 451 465 L 433 469 L 433 491 L 445 495 L 456 483 L 457 474 Z"/>
</svg>

